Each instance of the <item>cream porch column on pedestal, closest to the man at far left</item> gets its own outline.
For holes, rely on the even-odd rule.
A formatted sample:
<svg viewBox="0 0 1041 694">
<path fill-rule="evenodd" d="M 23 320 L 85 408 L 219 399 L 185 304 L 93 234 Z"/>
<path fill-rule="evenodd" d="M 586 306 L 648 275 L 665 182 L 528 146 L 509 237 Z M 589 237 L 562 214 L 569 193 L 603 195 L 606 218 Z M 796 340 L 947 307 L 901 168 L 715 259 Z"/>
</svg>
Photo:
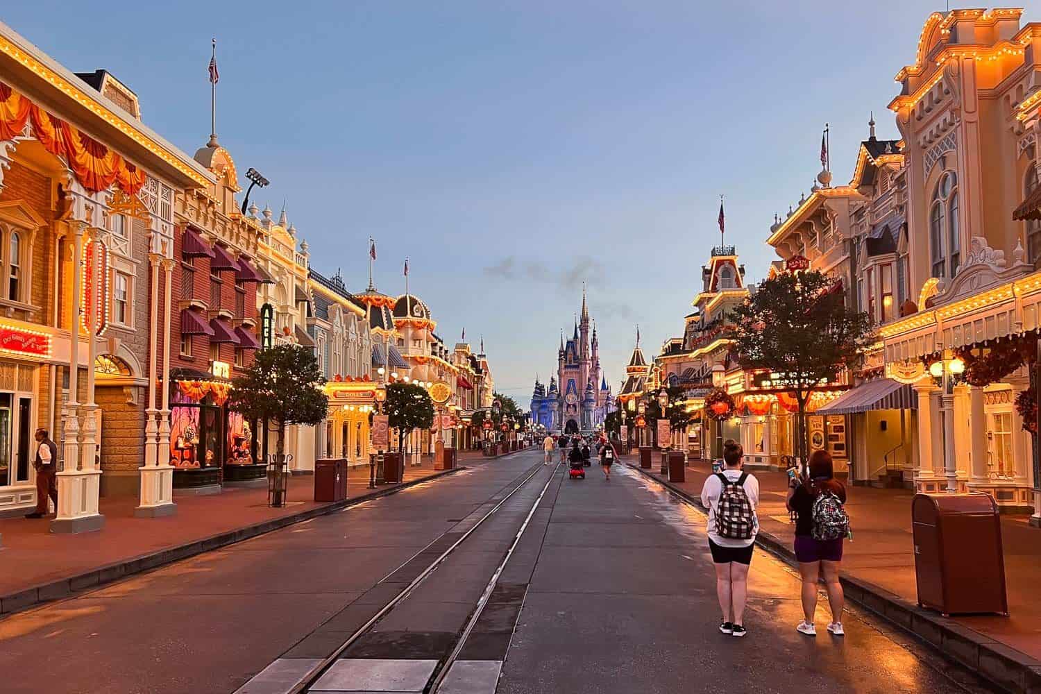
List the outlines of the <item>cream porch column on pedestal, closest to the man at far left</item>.
<svg viewBox="0 0 1041 694">
<path fill-rule="evenodd" d="M 71 223 L 73 311 L 72 329 L 69 331 L 69 400 L 61 408 L 64 422 L 61 434 L 62 463 L 57 472 L 58 508 L 51 521 L 52 533 L 83 533 L 101 530 L 104 516 L 98 513 L 98 491 L 101 470 L 96 469 L 93 457 L 90 466 L 83 465 L 80 453 L 79 393 L 79 331 L 83 315 L 82 277 L 83 234 L 86 225 Z M 88 338 L 90 339 L 90 338 Z M 91 363 L 91 369 L 94 364 Z M 93 416 L 90 415 L 90 416 Z M 93 422 L 92 422 L 93 429 Z"/>
</svg>

